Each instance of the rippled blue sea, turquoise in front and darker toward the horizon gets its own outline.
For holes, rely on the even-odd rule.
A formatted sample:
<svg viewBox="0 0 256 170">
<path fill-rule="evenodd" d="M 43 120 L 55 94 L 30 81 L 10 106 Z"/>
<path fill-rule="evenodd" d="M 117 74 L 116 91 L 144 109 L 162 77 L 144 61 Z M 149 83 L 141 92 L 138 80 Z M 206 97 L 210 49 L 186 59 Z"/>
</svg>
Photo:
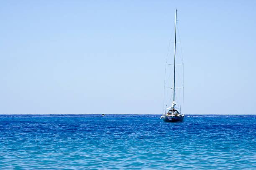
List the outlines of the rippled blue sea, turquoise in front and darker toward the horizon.
<svg viewBox="0 0 256 170">
<path fill-rule="evenodd" d="M 0 115 L 0 169 L 256 170 L 256 115 Z"/>
</svg>

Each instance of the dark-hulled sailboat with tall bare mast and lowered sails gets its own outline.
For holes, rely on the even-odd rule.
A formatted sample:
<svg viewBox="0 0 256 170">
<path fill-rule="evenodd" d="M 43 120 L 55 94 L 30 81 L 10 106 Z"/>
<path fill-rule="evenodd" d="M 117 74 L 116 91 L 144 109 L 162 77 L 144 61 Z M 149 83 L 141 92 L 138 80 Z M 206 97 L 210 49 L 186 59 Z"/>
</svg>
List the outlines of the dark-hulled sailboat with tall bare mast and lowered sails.
<svg viewBox="0 0 256 170">
<path fill-rule="evenodd" d="M 183 86 L 183 82 L 181 83 L 182 87 L 175 87 L 175 67 L 177 67 L 177 65 L 182 65 L 183 67 L 183 59 L 182 59 L 182 64 L 176 64 L 176 55 L 177 55 L 177 49 L 176 49 L 176 30 L 177 30 L 177 9 L 175 10 L 175 33 L 174 33 L 174 64 L 169 64 L 167 63 L 167 59 L 166 59 L 166 65 L 173 65 L 173 87 L 167 87 L 166 86 L 166 69 L 165 69 L 165 80 L 164 80 L 164 93 L 166 91 L 166 89 L 168 90 L 172 90 L 172 98 L 170 98 L 170 96 L 166 96 L 168 98 L 167 102 L 164 101 L 164 113 L 162 114 L 162 116 L 160 117 L 160 119 L 163 119 L 164 122 L 182 122 L 184 120 L 184 114 L 181 114 L 181 106 L 177 105 L 176 101 L 175 101 L 175 89 L 179 88 L 179 89 L 183 89 L 182 93 L 184 92 L 184 86 Z M 169 49 L 168 49 L 169 52 Z M 168 54 L 167 54 L 167 58 L 168 58 Z M 165 66 L 166 68 L 166 66 Z M 177 73 L 176 73 L 177 74 Z M 173 100 L 172 100 L 173 99 Z M 165 97 L 164 97 L 165 100 Z M 182 102 L 183 104 L 183 102 Z M 170 107 L 166 108 L 167 105 L 171 105 Z M 183 111 L 183 110 L 182 110 Z"/>
</svg>

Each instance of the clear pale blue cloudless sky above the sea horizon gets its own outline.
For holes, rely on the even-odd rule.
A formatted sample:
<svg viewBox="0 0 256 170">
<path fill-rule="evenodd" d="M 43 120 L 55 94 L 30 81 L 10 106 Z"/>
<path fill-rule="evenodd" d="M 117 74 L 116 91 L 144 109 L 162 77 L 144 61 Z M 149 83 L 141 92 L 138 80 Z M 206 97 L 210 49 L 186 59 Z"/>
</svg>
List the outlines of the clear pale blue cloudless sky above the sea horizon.
<svg viewBox="0 0 256 170">
<path fill-rule="evenodd" d="M 0 1 L 0 114 L 162 114 L 177 8 L 184 114 L 256 114 L 256 1 Z"/>
</svg>

